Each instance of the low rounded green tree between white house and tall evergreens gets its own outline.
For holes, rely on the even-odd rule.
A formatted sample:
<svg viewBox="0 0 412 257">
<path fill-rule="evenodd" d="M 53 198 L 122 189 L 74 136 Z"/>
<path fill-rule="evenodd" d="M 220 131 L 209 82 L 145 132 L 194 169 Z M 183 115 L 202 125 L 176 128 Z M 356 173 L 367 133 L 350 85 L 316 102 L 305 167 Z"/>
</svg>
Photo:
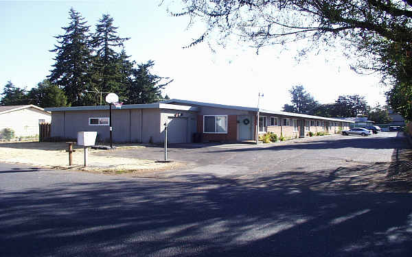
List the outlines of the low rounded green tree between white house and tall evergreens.
<svg viewBox="0 0 412 257">
<path fill-rule="evenodd" d="M 36 88 L 32 88 L 28 93 L 28 97 L 30 103 L 41 108 L 67 106 L 65 92 L 47 79 L 38 83 Z"/>
</svg>

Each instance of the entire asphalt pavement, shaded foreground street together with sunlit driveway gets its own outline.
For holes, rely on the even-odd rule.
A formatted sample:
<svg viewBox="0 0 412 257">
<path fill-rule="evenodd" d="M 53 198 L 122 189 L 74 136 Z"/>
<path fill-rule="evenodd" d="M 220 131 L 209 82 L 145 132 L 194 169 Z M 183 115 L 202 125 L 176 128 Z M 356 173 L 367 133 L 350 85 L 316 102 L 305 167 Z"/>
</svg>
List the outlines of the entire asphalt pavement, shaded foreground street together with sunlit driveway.
<svg viewBox="0 0 412 257">
<path fill-rule="evenodd" d="M 411 256 L 411 193 L 392 193 L 411 185 L 390 179 L 407 148 L 393 133 L 175 147 L 195 164 L 150 178 L 0 164 L 0 256 Z"/>
</svg>

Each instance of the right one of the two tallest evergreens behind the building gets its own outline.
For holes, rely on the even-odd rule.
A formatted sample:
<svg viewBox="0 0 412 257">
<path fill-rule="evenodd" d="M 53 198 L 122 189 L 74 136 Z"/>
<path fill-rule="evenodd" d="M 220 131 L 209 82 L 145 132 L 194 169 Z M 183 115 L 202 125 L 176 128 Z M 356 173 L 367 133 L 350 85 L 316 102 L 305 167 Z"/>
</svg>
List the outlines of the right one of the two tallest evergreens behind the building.
<svg viewBox="0 0 412 257">
<path fill-rule="evenodd" d="M 120 63 L 123 60 L 119 58 L 126 58 L 126 54 L 118 55 L 115 49 L 123 47 L 123 42 L 129 38 L 120 38 L 116 29 L 117 27 L 113 26 L 113 18 L 108 14 L 103 14 L 96 25 L 96 32 L 91 40 L 91 46 L 95 51 L 93 82 L 100 91 L 122 95 L 125 86 L 122 85 L 123 74 Z"/>
</svg>

